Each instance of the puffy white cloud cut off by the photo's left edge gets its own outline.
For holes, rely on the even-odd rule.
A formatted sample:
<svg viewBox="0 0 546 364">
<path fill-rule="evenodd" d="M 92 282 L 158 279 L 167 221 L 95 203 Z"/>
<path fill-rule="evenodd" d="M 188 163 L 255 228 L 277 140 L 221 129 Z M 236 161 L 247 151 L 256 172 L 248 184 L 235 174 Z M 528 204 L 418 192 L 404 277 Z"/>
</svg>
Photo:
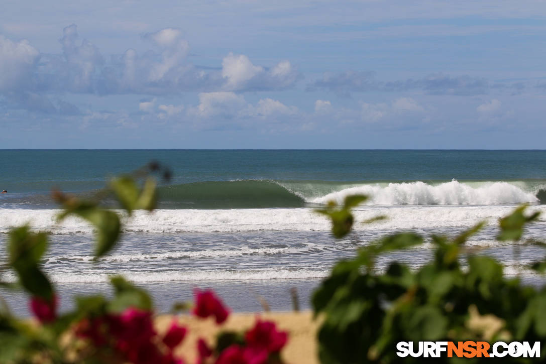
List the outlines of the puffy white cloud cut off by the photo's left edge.
<svg viewBox="0 0 546 364">
<path fill-rule="evenodd" d="M 0 91 L 28 86 L 39 55 L 28 41 L 16 43 L 0 35 Z"/>
</svg>

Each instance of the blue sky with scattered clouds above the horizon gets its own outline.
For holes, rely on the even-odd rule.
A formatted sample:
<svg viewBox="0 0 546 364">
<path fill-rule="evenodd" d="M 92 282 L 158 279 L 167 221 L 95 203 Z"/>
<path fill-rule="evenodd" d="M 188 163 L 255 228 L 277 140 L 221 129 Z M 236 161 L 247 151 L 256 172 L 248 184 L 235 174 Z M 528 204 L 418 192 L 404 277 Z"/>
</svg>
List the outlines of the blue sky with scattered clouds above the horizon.
<svg viewBox="0 0 546 364">
<path fill-rule="evenodd" d="M 546 2 L 3 0 L 0 148 L 546 148 Z"/>
</svg>

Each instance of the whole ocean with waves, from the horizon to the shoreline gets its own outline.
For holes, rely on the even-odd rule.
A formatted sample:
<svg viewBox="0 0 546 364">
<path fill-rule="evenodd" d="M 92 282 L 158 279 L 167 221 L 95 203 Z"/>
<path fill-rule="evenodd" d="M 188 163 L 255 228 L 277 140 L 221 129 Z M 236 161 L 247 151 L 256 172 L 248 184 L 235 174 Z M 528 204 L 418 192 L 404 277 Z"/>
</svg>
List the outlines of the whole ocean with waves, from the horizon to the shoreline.
<svg viewBox="0 0 546 364">
<path fill-rule="evenodd" d="M 119 246 L 92 260 L 93 230 L 84 221 L 55 222 L 52 187 L 92 193 L 111 176 L 151 160 L 173 178 L 159 186 L 154 212 L 123 218 Z M 546 151 L 485 150 L 0 150 L 0 259 L 7 233 L 29 223 L 50 232 L 43 266 L 60 293 L 61 309 L 75 295 L 110 295 L 108 277 L 121 274 L 149 290 L 159 312 L 192 299 L 194 288 L 213 288 L 234 311 L 302 308 L 336 261 L 396 231 L 453 236 L 480 220 L 485 228 L 468 242 L 478 254 L 505 265 L 505 274 L 544 284 L 526 265 L 541 248 L 495 240 L 498 218 L 519 204 L 541 211 L 527 237 L 546 237 Z M 354 231 L 341 240 L 314 212 L 346 195 L 370 196 L 355 209 Z M 364 220 L 384 215 L 371 224 Z M 381 257 L 412 267 L 431 257 L 431 244 Z M 2 279 L 14 273 L 0 270 Z M 0 289 L 19 315 L 27 297 Z"/>
</svg>

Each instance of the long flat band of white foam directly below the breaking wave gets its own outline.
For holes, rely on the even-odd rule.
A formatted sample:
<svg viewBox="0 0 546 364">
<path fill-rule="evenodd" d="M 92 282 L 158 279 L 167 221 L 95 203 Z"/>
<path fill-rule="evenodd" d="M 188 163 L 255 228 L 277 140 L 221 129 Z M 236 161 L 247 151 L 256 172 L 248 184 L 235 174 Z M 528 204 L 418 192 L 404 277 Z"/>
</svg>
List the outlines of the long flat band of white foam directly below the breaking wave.
<svg viewBox="0 0 546 364">
<path fill-rule="evenodd" d="M 480 220 L 497 224 L 500 217 L 513 211 L 514 206 L 364 206 L 354 212 L 355 230 L 419 229 L 471 226 Z M 546 206 L 531 211 L 546 216 Z M 90 224 L 79 218 L 67 218 L 55 224 L 58 210 L 0 210 L 0 232 L 29 223 L 33 229 L 54 234 L 91 233 Z M 364 220 L 384 215 L 387 220 L 363 224 Z M 544 219 L 538 224 L 544 224 Z M 156 210 L 136 211 L 123 218 L 128 232 L 238 232 L 238 231 L 329 231 L 329 220 L 311 208 L 257 208 L 234 210 Z"/>
</svg>

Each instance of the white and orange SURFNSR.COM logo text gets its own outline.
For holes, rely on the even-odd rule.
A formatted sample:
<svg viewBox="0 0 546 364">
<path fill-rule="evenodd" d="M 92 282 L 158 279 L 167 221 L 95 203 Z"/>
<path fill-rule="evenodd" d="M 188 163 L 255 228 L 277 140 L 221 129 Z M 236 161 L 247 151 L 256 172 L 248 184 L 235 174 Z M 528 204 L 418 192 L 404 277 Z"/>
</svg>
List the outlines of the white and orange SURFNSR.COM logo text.
<svg viewBox="0 0 546 364">
<path fill-rule="evenodd" d="M 401 341 L 396 344 L 396 355 L 406 357 L 540 357 L 541 343 L 497 341 Z"/>
</svg>

